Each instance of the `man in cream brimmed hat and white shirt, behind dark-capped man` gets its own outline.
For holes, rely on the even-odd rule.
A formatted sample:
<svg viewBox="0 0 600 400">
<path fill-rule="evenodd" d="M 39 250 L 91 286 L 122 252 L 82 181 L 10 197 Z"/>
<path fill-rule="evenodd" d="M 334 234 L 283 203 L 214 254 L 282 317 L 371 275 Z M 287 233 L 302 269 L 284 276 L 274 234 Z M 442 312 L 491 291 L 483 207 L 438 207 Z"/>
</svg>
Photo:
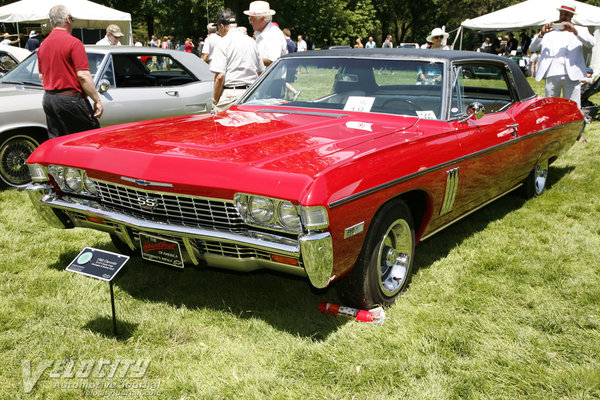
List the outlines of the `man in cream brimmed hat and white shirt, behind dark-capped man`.
<svg viewBox="0 0 600 400">
<path fill-rule="evenodd" d="M 268 67 L 287 50 L 283 32 L 272 22 L 275 11 L 271 10 L 266 1 L 253 1 L 244 14 L 248 15 L 250 25 L 254 29 L 258 51 L 265 67 Z"/>
</svg>

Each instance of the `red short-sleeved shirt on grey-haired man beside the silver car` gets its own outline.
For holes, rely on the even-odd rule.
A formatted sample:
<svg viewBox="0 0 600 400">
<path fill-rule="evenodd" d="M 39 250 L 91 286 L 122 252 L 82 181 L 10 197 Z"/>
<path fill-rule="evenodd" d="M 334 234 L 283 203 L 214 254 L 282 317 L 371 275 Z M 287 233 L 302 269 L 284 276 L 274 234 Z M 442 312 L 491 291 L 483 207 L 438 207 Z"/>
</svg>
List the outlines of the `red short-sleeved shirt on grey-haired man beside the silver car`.
<svg viewBox="0 0 600 400">
<path fill-rule="evenodd" d="M 77 71 L 89 71 L 81 40 L 64 29 L 53 29 L 38 50 L 38 70 L 44 90 L 74 90 L 83 93 Z"/>
</svg>

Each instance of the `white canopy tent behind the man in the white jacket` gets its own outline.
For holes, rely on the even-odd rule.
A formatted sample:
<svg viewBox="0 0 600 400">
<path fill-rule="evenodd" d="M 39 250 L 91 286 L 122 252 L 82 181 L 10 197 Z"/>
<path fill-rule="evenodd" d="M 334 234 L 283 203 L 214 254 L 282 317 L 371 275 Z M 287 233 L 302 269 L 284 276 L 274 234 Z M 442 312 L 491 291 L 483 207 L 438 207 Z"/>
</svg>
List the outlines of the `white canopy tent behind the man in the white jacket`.
<svg viewBox="0 0 600 400">
<path fill-rule="evenodd" d="M 462 47 L 463 28 L 505 32 L 526 28 L 539 29 L 542 25 L 558 19 L 556 9 L 563 4 L 576 6 L 575 16 L 573 17 L 574 24 L 591 28 L 591 32 L 596 39 L 596 45 L 592 50 L 589 64 L 594 69 L 594 73 L 598 74 L 600 72 L 600 7 L 579 1 L 527 0 L 481 17 L 467 19 L 461 24 L 461 34 L 457 35 L 461 38 L 460 46 Z"/>
</svg>

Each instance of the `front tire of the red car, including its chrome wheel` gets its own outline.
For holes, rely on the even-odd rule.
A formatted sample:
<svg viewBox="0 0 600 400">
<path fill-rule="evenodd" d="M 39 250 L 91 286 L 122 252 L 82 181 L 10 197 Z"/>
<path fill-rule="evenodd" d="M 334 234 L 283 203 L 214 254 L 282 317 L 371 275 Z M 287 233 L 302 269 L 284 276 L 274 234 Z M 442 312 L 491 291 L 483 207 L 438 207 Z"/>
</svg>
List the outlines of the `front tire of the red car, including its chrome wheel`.
<svg viewBox="0 0 600 400">
<path fill-rule="evenodd" d="M 337 286 L 344 305 L 391 305 L 408 286 L 415 253 L 412 214 L 403 201 L 384 206 L 367 233 L 353 270 Z"/>
</svg>

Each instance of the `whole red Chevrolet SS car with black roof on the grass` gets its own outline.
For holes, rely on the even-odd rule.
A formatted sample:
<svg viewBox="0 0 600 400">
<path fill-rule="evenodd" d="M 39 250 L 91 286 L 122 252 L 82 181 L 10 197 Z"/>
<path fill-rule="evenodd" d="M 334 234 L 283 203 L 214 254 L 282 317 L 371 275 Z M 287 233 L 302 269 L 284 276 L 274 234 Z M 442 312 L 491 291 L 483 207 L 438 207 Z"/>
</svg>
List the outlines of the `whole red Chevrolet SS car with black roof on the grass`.
<svg viewBox="0 0 600 400">
<path fill-rule="evenodd" d="M 515 189 L 542 194 L 583 127 L 506 58 L 295 53 L 220 114 L 43 143 L 28 192 L 53 226 L 106 231 L 148 261 L 337 281 L 370 307 L 406 288 L 420 241 Z"/>
</svg>

